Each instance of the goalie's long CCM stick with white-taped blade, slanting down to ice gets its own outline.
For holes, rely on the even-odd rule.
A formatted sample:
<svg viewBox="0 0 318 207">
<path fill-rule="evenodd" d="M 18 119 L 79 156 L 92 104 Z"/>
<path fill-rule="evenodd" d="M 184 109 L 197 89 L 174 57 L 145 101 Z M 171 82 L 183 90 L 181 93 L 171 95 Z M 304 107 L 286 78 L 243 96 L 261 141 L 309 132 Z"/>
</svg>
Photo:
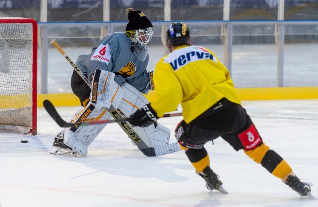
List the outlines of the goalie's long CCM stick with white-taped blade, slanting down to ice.
<svg viewBox="0 0 318 207">
<path fill-rule="evenodd" d="M 51 44 L 54 45 L 56 47 L 56 49 L 68 60 L 68 62 L 73 66 L 73 69 L 79 74 L 79 76 L 83 79 L 83 81 L 91 88 L 91 83 L 82 74 L 82 72 L 79 70 L 79 68 L 76 66 L 76 64 L 74 64 L 74 62 L 71 60 L 71 58 L 68 55 L 66 55 L 66 52 L 63 51 L 63 49 L 59 46 L 59 44 L 56 42 L 56 40 L 52 40 Z M 53 104 L 52 104 L 52 106 L 53 106 Z M 55 110 L 55 108 L 54 108 L 54 110 Z M 111 114 L 111 116 L 114 119 L 123 119 L 123 116 L 121 115 L 121 113 L 112 104 L 107 109 L 107 111 Z M 56 111 L 56 113 L 57 113 L 57 111 Z M 57 117 L 57 116 L 55 116 L 55 117 Z M 60 115 L 59 115 L 59 117 L 61 118 Z M 60 120 L 63 120 L 63 119 L 61 118 Z M 108 123 L 110 123 L 110 122 L 108 122 Z M 146 156 L 165 155 L 165 154 L 174 153 L 174 152 L 181 150 L 180 146 L 177 142 L 170 143 L 170 144 L 165 145 L 165 146 L 157 147 L 157 150 L 155 150 L 155 148 L 148 147 L 146 145 L 146 143 L 133 130 L 133 128 L 130 126 L 130 124 L 127 121 L 121 121 L 121 122 L 117 122 L 117 123 L 124 130 L 124 132 L 128 135 L 128 137 L 136 144 L 138 149 Z"/>
</svg>

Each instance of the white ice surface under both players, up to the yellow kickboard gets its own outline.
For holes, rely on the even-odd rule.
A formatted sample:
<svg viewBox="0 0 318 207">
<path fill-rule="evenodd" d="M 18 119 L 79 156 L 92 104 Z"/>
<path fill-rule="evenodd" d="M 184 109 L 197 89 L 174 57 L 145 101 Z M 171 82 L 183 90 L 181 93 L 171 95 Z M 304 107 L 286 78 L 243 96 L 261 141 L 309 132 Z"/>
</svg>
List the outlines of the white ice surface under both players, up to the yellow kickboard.
<svg viewBox="0 0 318 207">
<path fill-rule="evenodd" d="M 263 141 L 318 195 L 318 100 L 248 101 L 243 106 Z M 58 107 L 64 119 L 78 107 Z M 159 119 L 174 130 L 181 117 Z M 89 146 L 87 157 L 49 155 L 61 130 L 43 108 L 35 137 L 0 133 L 1 207 L 317 207 L 243 152 L 218 138 L 206 144 L 228 195 L 210 193 L 184 152 L 146 157 L 116 124 Z M 171 133 L 173 134 L 173 133 Z M 28 139 L 29 143 L 21 143 Z M 171 135 L 171 142 L 175 138 Z"/>
</svg>

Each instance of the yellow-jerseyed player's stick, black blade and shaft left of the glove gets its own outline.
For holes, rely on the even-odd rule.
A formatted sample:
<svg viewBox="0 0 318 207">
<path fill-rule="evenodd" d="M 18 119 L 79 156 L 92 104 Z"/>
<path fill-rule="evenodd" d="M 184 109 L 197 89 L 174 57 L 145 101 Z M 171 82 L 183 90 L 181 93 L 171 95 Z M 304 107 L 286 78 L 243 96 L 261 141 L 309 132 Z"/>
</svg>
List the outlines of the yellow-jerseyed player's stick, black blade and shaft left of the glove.
<svg viewBox="0 0 318 207">
<path fill-rule="evenodd" d="M 81 122 L 81 123 L 68 123 L 62 119 L 60 114 L 55 109 L 54 105 L 49 100 L 44 100 L 43 106 L 45 110 L 50 114 L 50 116 L 54 119 L 54 121 L 60 127 L 79 127 L 79 126 L 87 126 L 87 125 L 95 125 L 95 124 L 107 124 L 107 123 L 114 123 L 114 122 L 129 121 L 129 118 L 122 118 L 122 119 L 106 119 L 101 121 Z"/>
</svg>

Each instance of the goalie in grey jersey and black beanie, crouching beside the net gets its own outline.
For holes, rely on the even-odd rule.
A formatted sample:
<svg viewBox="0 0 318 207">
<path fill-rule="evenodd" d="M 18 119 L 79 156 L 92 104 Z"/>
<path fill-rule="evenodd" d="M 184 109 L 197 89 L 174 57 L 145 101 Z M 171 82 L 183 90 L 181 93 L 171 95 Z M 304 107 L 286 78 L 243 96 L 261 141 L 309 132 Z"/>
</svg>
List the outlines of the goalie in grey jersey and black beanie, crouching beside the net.
<svg viewBox="0 0 318 207">
<path fill-rule="evenodd" d="M 79 55 L 76 65 L 92 84 L 86 85 L 74 71 L 71 86 L 84 108 L 75 122 L 110 119 L 110 105 L 130 116 L 149 102 L 142 94 L 154 89 L 152 72 L 146 67 L 149 54 L 146 44 L 153 35 L 153 25 L 146 15 L 132 8 L 126 10 L 129 23 L 125 33 L 115 32 L 101 39 L 88 55 Z M 142 92 L 142 93 L 141 93 Z M 67 128 L 54 140 L 53 154 L 87 155 L 87 147 L 106 124 Z M 132 127 L 148 147 L 169 144 L 170 130 L 158 123 Z"/>
</svg>

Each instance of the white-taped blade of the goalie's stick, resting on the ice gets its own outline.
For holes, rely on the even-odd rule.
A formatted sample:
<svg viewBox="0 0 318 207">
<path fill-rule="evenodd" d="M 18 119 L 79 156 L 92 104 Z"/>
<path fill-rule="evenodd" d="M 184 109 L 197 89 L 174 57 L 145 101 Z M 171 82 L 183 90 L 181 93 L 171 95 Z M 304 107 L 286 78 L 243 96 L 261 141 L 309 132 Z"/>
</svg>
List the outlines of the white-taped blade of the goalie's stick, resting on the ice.
<svg viewBox="0 0 318 207">
<path fill-rule="evenodd" d="M 166 155 L 166 154 L 178 152 L 180 150 L 181 150 L 180 145 L 177 142 L 170 143 L 168 145 L 164 145 L 160 147 L 140 149 L 140 151 L 146 156 Z"/>
</svg>

